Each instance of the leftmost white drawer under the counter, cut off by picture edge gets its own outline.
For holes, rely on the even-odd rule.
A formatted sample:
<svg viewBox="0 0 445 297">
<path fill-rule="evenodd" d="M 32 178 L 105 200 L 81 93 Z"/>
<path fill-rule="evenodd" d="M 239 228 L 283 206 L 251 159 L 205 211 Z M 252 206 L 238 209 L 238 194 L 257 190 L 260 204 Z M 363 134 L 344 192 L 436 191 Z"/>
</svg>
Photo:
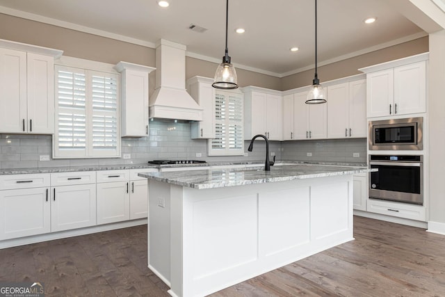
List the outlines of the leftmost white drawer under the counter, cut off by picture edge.
<svg viewBox="0 0 445 297">
<path fill-rule="evenodd" d="M 30 175 L 0 175 L 0 190 L 40 188 L 49 186 L 49 181 L 49 173 L 35 173 Z"/>
</svg>

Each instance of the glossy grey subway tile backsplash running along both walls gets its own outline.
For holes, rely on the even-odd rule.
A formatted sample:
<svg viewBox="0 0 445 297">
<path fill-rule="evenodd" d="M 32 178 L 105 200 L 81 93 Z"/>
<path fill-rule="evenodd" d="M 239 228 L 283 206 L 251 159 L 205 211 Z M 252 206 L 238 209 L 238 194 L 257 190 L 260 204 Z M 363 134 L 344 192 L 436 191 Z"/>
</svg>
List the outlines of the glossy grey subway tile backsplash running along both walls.
<svg viewBox="0 0 445 297">
<path fill-rule="evenodd" d="M 154 120 L 149 122 L 149 136 L 122 138 L 122 156 L 130 159 L 52 159 L 52 136 L 0 134 L 0 168 L 44 168 L 101 166 L 147 163 L 155 159 L 201 159 L 206 161 L 262 161 L 266 145 L 255 141 L 253 152 L 248 156 L 207 156 L 207 140 L 191 139 L 188 122 Z M 245 152 L 250 141 L 245 141 Z M 298 161 L 346 161 L 366 162 L 366 139 L 341 139 L 323 141 L 270 141 L 269 151 L 275 152 L 277 160 Z M 312 152 L 312 157 L 307 157 Z M 359 158 L 353 158 L 353 152 Z M 197 157 L 197 153 L 201 157 Z M 41 155 L 49 155 L 49 161 L 39 161 Z"/>
</svg>

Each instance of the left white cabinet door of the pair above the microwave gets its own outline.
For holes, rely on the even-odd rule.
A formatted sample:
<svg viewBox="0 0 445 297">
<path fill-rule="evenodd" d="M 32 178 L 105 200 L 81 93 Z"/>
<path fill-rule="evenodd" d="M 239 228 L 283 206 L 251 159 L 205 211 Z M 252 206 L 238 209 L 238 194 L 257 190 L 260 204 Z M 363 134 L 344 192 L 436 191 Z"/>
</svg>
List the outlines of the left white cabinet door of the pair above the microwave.
<svg viewBox="0 0 445 297">
<path fill-rule="evenodd" d="M 366 75 L 368 118 L 394 113 L 394 70 L 382 70 Z"/>
</svg>

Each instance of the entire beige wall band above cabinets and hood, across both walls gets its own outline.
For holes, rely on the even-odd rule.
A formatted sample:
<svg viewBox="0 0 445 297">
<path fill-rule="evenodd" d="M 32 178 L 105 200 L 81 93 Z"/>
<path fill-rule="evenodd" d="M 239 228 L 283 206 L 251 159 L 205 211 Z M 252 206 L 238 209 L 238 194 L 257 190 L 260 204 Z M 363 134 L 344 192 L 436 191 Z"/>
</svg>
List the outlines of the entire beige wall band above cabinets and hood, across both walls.
<svg viewBox="0 0 445 297">
<path fill-rule="evenodd" d="M 0 38 L 17 42 L 62 49 L 65 56 L 115 64 L 126 61 L 156 67 L 155 50 L 128 42 L 104 38 L 98 35 L 65 29 L 58 26 L 0 14 Z M 323 81 L 359 74 L 366 67 L 396 58 L 403 58 L 428 51 L 428 37 L 401 45 L 373 51 L 354 58 L 318 68 L 318 78 Z M 213 77 L 217 64 L 196 58 L 186 58 L 186 79 L 195 75 Z M 314 78 L 314 70 L 293 74 L 289 77 L 272 77 L 243 69 L 236 70 L 238 83 L 243 86 L 259 86 L 274 90 L 289 90 L 308 86 Z M 150 89 L 154 87 L 154 72 L 150 74 Z M 151 93 L 151 92 L 150 92 Z"/>
</svg>

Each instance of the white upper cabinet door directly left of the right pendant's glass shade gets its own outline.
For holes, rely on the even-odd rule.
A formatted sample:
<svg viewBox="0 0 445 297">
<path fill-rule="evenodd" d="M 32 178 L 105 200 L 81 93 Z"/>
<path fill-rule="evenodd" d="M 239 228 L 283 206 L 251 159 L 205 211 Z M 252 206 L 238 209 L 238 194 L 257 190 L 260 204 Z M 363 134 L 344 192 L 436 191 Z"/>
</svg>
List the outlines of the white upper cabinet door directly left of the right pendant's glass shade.
<svg viewBox="0 0 445 297">
<path fill-rule="evenodd" d="M 296 93 L 293 95 L 294 139 L 309 138 L 309 105 L 305 104 L 306 96 L 307 92 Z"/>
</svg>

